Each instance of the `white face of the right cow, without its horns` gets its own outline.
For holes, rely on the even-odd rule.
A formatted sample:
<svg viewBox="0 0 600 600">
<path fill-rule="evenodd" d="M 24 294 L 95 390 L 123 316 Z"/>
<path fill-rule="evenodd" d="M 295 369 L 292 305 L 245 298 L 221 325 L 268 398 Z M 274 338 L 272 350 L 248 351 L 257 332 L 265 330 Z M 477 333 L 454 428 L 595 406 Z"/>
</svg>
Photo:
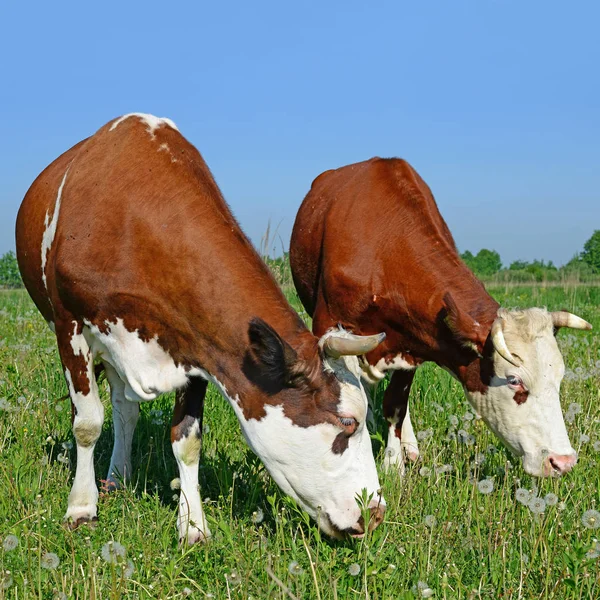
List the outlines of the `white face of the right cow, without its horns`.
<svg viewBox="0 0 600 600">
<path fill-rule="evenodd" d="M 523 458 L 525 471 L 542 476 L 547 474 L 543 463 L 548 454 L 575 455 L 560 406 L 563 359 L 550 320 L 533 340 L 524 341 L 514 334 L 505 334 L 505 338 L 509 350 L 523 360 L 522 366 L 514 367 L 494 353 L 495 375 L 487 393 L 465 392 L 490 429 Z M 523 380 L 529 391 L 524 403 L 514 400 L 515 390 L 507 384 L 508 375 Z"/>
</svg>

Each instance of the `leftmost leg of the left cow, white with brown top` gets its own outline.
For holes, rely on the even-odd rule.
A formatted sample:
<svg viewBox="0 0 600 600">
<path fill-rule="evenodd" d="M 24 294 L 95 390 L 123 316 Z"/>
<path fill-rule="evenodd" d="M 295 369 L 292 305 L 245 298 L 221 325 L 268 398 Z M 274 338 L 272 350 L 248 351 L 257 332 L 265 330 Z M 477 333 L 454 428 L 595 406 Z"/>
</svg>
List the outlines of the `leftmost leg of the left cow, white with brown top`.
<svg viewBox="0 0 600 600">
<path fill-rule="evenodd" d="M 104 407 L 94 377 L 92 352 L 83 336 L 83 323 L 57 320 L 56 338 L 71 396 L 73 435 L 77 445 L 75 480 L 65 520 L 71 527 L 77 527 L 97 516 L 94 447 L 102 431 Z"/>
</svg>

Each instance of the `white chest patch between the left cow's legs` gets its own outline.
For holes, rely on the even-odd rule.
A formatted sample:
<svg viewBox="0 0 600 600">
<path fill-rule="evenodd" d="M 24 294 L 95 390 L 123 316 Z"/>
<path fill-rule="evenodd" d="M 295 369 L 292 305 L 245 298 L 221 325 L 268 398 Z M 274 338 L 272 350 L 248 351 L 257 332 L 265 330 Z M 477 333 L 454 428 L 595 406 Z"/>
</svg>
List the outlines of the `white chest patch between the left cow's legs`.
<svg viewBox="0 0 600 600">
<path fill-rule="evenodd" d="M 161 348 L 157 338 L 144 342 L 136 331 L 128 331 L 123 320 L 106 322 L 108 331 L 84 321 L 84 335 L 94 356 L 102 358 L 115 369 L 125 383 L 125 398 L 134 402 L 154 400 L 186 384 L 188 374 L 183 365 L 176 365 Z M 192 371 L 189 374 L 193 374 Z"/>
</svg>

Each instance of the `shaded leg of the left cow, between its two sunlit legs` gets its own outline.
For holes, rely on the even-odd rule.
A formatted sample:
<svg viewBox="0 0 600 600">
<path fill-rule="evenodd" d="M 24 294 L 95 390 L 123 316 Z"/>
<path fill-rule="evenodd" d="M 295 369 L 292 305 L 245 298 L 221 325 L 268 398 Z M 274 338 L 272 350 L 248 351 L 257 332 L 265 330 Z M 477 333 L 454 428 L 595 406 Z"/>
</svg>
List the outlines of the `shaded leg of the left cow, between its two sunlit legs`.
<svg viewBox="0 0 600 600">
<path fill-rule="evenodd" d="M 115 442 L 106 476 L 106 488 L 118 489 L 131 479 L 131 443 L 140 416 L 140 405 L 125 398 L 125 384 L 109 364 L 104 365 L 110 384 L 110 400 L 113 407 Z"/>
</svg>

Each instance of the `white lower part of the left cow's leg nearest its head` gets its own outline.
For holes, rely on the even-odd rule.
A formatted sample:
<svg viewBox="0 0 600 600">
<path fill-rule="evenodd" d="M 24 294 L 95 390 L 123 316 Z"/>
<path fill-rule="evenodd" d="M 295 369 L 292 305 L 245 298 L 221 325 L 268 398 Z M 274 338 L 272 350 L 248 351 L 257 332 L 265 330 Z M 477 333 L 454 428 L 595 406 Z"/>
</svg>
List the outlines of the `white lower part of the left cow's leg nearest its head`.
<svg viewBox="0 0 600 600">
<path fill-rule="evenodd" d="M 198 486 L 198 463 L 200 460 L 200 430 L 195 421 L 187 435 L 173 442 L 173 454 L 179 467 L 181 493 L 177 528 L 179 538 L 193 544 L 210 537 Z"/>
</svg>

